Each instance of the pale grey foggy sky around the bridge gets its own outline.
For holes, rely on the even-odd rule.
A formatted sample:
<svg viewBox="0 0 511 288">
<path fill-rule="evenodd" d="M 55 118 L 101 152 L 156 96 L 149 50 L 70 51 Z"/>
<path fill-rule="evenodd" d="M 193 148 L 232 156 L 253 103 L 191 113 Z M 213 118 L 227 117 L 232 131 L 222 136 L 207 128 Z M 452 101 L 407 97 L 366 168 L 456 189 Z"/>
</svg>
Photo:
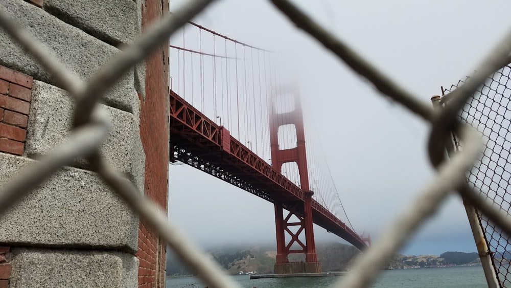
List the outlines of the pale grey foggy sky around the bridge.
<svg viewBox="0 0 511 288">
<path fill-rule="evenodd" d="M 182 2 L 171 1 L 171 11 Z M 441 93 L 441 85 L 470 75 L 511 29 L 509 1 L 294 3 L 425 103 Z M 304 118 L 316 130 L 346 214 L 359 234 L 369 233 L 377 241 L 434 179 L 426 151 L 429 125 L 379 95 L 269 1 L 217 1 L 194 21 L 295 59 Z M 188 165 L 170 165 L 169 218 L 203 247 L 275 243 L 271 203 Z M 314 233 L 317 242 L 340 240 L 318 226 Z M 476 251 L 457 195 L 401 253 L 446 251 Z"/>
</svg>

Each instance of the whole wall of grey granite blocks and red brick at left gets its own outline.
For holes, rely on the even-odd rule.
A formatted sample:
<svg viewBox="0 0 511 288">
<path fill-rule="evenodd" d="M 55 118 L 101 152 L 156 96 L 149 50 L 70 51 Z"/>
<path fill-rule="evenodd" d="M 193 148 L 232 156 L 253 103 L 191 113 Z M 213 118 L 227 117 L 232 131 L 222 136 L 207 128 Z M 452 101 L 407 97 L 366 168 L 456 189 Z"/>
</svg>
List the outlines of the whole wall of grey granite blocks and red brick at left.
<svg viewBox="0 0 511 288">
<path fill-rule="evenodd" d="M 0 0 L 0 5 L 84 80 L 169 9 L 161 0 Z M 126 181 L 165 210 L 167 53 L 168 45 L 162 45 L 104 97 L 112 130 L 100 147 Z M 0 31 L 0 187 L 66 141 L 73 109 L 51 75 Z M 0 287 L 7 286 L 164 287 L 165 246 L 86 161 L 77 160 L 0 218 Z"/>
</svg>

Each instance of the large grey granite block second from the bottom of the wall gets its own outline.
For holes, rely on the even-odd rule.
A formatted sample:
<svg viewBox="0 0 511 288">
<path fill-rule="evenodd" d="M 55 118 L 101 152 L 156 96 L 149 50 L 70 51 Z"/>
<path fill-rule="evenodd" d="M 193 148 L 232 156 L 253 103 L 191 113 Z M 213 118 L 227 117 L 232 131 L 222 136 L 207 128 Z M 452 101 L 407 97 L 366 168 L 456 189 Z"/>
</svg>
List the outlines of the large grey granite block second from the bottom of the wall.
<svg viewBox="0 0 511 288">
<path fill-rule="evenodd" d="M 0 153 L 0 188 L 35 161 Z M 0 218 L 3 246 L 101 247 L 134 253 L 138 216 L 97 176 L 64 168 Z"/>
</svg>

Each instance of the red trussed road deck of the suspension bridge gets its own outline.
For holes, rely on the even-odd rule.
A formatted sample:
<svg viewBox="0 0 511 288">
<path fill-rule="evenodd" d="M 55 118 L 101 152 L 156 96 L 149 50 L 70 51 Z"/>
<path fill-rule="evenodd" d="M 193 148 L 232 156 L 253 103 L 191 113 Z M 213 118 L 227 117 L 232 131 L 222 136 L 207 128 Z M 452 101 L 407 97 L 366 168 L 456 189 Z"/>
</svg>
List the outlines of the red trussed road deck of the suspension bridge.
<svg viewBox="0 0 511 288">
<path fill-rule="evenodd" d="M 175 92 L 170 92 L 171 161 L 179 160 L 234 184 L 274 203 L 304 202 L 304 192 L 284 175 L 208 119 Z M 213 167 L 217 166 L 217 169 Z M 243 171 L 233 175 L 233 171 Z M 315 224 L 352 243 L 366 248 L 362 238 L 327 208 L 313 200 Z"/>
</svg>

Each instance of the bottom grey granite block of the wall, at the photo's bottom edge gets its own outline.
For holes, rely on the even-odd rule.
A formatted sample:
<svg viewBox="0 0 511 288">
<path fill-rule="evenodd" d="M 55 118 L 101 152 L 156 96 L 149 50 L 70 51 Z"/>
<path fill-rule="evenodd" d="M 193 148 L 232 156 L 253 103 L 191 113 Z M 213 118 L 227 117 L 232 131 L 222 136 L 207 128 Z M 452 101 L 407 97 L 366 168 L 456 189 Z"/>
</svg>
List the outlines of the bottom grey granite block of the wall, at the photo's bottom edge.
<svg viewBox="0 0 511 288">
<path fill-rule="evenodd" d="M 121 252 L 13 249 L 11 288 L 137 287 L 138 259 Z"/>
</svg>

